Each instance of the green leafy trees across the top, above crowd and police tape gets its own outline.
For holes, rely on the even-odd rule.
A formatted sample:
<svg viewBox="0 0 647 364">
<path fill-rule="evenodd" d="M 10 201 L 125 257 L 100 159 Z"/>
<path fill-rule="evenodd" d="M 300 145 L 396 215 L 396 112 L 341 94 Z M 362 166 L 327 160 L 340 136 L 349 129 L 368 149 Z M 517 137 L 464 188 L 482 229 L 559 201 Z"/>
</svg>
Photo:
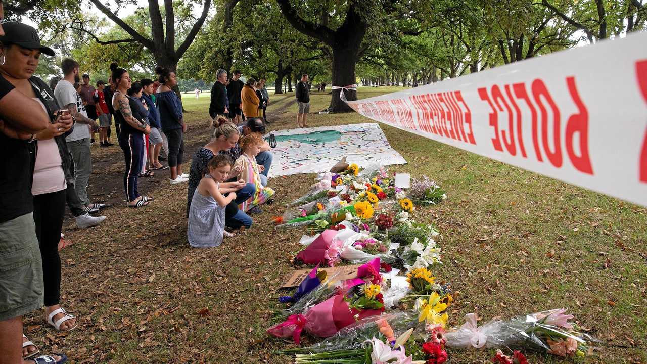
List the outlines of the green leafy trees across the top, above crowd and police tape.
<svg viewBox="0 0 647 364">
<path fill-rule="evenodd" d="M 88 1 L 101 16 L 69 0 L 10 0 L 5 9 L 8 19 L 37 22 L 89 72 L 116 61 L 151 74 L 159 64 L 208 83 L 217 69 L 239 69 L 277 93 L 302 73 L 335 86 L 427 84 L 622 38 L 647 23 L 644 0 L 148 0 L 123 17 L 115 10 L 124 3 Z M 57 62 L 39 70 L 53 74 Z M 339 90 L 329 108 L 348 110 Z"/>
</svg>

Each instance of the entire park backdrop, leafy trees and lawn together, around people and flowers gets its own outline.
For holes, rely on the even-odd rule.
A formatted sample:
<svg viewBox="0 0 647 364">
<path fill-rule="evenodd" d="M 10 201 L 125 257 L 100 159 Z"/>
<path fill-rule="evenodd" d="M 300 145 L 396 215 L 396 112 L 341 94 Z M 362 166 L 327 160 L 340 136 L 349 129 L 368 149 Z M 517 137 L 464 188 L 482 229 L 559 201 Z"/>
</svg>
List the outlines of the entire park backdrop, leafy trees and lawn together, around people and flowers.
<svg viewBox="0 0 647 364">
<path fill-rule="evenodd" d="M 264 77 L 286 89 L 270 93 L 269 131 L 296 126 L 291 91 L 302 73 L 314 84 L 383 85 L 348 95 L 367 98 L 614 41 L 644 31 L 647 19 L 647 7 L 637 0 L 44 0 L 5 1 L 5 9 L 6 19 L 35 25 L 56 50 L 53 58 L 41 57 L 38 75 L 46 81 L 60 76 L 67 56 L 93 83 L 107 78 L 111 62 L 133 79 L 153 78 L 158 64 L 171 67 L 184 91 L 196 85 L 207 91 L 221 67 L 240 69 L 245 78 Z M 311 109 L 348 111 L 329 90 L 313 91 Z M 189 93 L 182 100 L 190 157 L 208 142 L 209 98 Z M 336 112 L 311 115 L 308 123 L 367 121 Z M 426 174 L 448 192 L 445 203 L 422 208 L 417 218 L 442 232 L 447 258 L 433 273 L 457 291 L 450 324 L 460 324 L 468 312 L 488 320 L 567 307 L 589 334 L 625 347 L 600 345 L 584 362 L 647 361 L 641 349 L 647 345 L 644 208 L 382 129 L 409 162 L 392 172 Z M 285 342 L 269 339 L 265 328 L 305 231 L 274 231 L 272 216 L 283 212 L 281 203 L 221 247 L 190 249 L 186 188 L 168 185 L 163 173 L 142 179 L 140 190 L 155 204 L 126 209 L 121 151 L 94 146 L 93 163 L 91 194 L 113 207 L 91 233 L 72 229 L 68 220 L 65 238 L 74 245 L 61 253 L 63 299 L 81 328 L 53 334 L 32 315 L 25 333 L 52 351 L 64 350 L 74 363 L 288 363 L 273 354 Z M 279 177 L 270 187 L 289 201 L 308 190 L 313 177 Z M 491 356 L 491 350 L 450 352 L 452 363 L 486 363 Z"/>
</svg>

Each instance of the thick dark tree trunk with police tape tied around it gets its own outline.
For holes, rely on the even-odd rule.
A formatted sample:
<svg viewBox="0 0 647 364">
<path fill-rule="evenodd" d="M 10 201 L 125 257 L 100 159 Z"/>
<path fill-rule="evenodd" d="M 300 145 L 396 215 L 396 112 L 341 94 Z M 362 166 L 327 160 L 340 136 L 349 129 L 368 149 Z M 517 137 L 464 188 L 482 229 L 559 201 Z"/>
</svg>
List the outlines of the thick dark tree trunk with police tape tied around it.
<svg viewBox="0 0 647 364">
<path fill-rule="evenodd" d="M 355 65 L 357 63 L 356 47 L 333 48 L 333 85 L 344 87 L 355 84 Z M 342 89 L 334 89 L 330 100 L 328 111 L 331 113 L 349 113 L 353 111 L 340 98 Z M 346 100 L 357 100 L 357 91 L 351 89 L 344 90 Z"/>
</svg>

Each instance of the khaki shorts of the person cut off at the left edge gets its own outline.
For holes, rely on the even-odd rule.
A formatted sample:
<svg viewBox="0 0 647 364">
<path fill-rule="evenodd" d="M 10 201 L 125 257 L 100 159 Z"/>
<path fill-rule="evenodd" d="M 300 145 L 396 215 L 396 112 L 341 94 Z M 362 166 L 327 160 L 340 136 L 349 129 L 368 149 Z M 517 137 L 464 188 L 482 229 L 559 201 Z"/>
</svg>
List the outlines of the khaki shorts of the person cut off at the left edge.
<svg viewBox="0 0 647 364">
<path fill-rule="evenodd" d="M 34 214 L 0 223 L 0 321 L 43 307 L 41 264 Z"/>
</svg>

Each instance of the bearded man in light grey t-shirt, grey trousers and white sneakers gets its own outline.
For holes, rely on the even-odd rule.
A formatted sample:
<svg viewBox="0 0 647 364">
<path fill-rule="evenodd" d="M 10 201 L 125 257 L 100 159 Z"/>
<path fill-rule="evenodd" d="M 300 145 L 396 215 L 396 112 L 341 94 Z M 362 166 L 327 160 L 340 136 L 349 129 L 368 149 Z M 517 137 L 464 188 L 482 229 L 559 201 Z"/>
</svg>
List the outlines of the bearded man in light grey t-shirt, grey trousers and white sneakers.
<svg viewBox="0 0 647 364">
<path fill-rule="evenodd" d="M 76 120 L 74 130 L 65 137 L 67 148 L 74 159 L 74 189 L 86 209 L 100 209 L 104 207 L 104 204 L 90 203 L 86 189 L 92 173 L 90 133 L 91 130 L 98 130 L 98 126 L 94 120 L 87 117 L 83 101 L 74 89 L 74 82 L 78 82 L 79 78 L 78 62 L 65 58 L 61 63 L 61 69 L 63 69 L 63 80 L 60 80 L 56 85 L 54 97 L 63 108 L 70 110 L 72 117 Z"/>
</svg>

